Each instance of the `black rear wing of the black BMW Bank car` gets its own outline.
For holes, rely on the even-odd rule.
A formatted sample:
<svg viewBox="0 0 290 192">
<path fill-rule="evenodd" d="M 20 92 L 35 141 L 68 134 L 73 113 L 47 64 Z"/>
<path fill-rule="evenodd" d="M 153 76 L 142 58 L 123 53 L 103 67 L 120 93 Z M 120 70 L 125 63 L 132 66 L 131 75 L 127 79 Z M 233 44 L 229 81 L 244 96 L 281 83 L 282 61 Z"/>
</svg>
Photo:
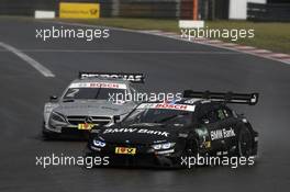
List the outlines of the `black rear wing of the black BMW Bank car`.
<svg viewBox="0 0 290 192">
<path fill-rule="evenodd" d="M 249 104 L 258 103 L 259 93 L 234 93 L 234 92 L 210 92 L 185 90 L 183 98 L 209 99 L 212 101 L 224 101 L 226 103 Z"/>
</svg>

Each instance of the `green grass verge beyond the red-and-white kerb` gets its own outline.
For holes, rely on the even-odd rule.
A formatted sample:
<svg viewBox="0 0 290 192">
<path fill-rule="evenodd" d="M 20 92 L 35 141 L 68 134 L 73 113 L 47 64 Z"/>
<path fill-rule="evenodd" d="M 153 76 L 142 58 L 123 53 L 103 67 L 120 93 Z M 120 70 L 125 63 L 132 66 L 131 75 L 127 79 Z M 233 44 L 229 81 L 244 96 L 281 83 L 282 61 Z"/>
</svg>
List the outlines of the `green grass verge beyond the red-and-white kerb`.
<svg viewBox="0 0 290 192">
<path fill-rule="evenodd" d="M 68 22 L 88 23 L 102 26 L 115 26 L 133 30 L 161 30 L 180 33 L 177 20 L 152 19 L 99 19 L 99 20 L 65 20 Z M 239 38 L 241 45 L 255 46 L 274 52 L 290 54 L 290 23 L 254 23 L 247 21 L 209 21 L 209 29 L 254 29 L 254 38 Z M 231 39 L 221 38 L 224 42 Z"/>
</svg>

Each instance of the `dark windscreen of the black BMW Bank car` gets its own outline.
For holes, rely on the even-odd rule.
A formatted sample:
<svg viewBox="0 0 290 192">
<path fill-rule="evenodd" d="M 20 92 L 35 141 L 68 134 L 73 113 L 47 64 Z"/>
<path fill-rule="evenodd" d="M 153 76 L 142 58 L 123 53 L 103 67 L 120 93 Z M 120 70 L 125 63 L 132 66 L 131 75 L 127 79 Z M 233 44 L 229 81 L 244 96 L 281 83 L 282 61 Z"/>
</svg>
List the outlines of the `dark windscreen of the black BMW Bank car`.
<svg viewBox="0 0 290 192">
<path fill-rule="evenodd" d="M 136 109 L 122 122 L 125 125 L 142 123 L 191 124 L 191 112 L 165 109 Z"/>
</svg>

